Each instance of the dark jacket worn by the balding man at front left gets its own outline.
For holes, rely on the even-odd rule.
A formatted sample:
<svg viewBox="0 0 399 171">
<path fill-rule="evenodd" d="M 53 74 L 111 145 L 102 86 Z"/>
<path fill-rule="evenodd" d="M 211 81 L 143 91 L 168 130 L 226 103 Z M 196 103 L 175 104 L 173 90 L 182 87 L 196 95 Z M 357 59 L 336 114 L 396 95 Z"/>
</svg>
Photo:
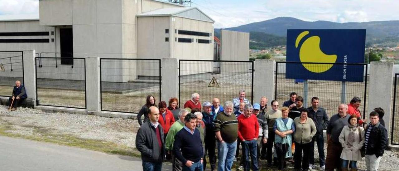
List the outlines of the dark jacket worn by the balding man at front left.
<svg viewBox="0 0 399 171">
<path fill-rule="evenodd" d="M 156 138 L 156 130 L 151 125 L 151 122 L 144 122 L 136 135 L 136 149 L 141 153 L 141 159 L 145 162 L 158 163 L 162 162 L 165 158 L 165 141 L 164 129 L 159 124 L 159 129 L 162 141 L 162 149 L 159 149 L 158 140 Z"/>
</svg>

